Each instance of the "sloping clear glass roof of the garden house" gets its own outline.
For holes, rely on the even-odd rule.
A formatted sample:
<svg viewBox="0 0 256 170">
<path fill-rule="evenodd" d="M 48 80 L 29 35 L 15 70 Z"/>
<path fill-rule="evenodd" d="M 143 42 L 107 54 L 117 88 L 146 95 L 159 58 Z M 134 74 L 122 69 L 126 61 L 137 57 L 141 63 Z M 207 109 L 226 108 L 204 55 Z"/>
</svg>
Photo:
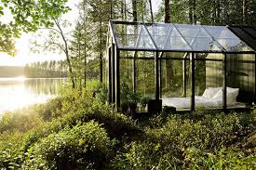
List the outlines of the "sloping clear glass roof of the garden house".
<svg viewBox="0 0 256 170">
<path fill-rule="evenodd" d="M 254 50 L 224 26 L 111 21 L 120 49 L 243 52 Z"/>
</svg>

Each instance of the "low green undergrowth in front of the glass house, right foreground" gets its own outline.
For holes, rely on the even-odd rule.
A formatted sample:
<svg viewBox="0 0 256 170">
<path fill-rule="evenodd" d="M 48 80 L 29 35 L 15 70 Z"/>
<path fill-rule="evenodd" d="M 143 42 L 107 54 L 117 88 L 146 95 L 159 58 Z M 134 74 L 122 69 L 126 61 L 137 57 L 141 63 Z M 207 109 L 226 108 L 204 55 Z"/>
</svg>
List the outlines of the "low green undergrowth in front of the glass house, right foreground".
<svg viewBox="0 0 256 170">
<path fill-rule="evenodd" d="M 111 167 L 140 170 L 255 167 L 256 157 L 251 150 L 254 146 L 249 145 L 250 149 L 245 150 L 237 144 L 255 131 L 251 113 L 199 111 L 165 116 L 145 120 L 149 126 L 143 123 L 146 132 L 143 139 L 128 143 Z"/>
</svg>

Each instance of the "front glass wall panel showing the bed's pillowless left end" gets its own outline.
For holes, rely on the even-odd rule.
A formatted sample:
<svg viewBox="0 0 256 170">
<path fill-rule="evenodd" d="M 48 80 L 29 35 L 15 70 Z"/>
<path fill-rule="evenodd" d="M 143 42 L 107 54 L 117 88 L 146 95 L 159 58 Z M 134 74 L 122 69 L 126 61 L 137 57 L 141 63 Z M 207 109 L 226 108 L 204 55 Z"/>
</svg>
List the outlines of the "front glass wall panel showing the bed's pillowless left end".
<svg viewBox="0 0 256 170">
<path fill-rule="evenodd" d="M 160 59 L 160 94 L 163 106 L 191 109 L 189 53 L 166 52 Z"/>
</svg>

